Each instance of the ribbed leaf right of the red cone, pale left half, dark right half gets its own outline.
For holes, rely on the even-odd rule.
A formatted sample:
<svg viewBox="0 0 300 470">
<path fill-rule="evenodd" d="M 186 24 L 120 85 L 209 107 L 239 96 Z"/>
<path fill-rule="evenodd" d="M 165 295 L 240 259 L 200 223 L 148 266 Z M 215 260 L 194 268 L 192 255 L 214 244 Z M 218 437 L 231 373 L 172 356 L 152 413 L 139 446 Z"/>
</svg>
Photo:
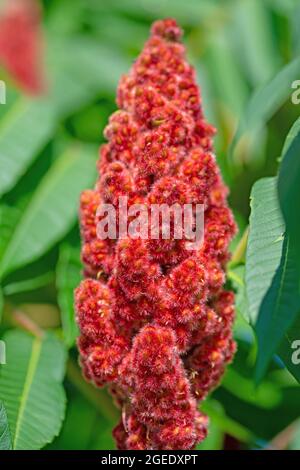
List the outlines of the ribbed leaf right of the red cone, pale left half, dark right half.
<svg viewBox="0 0 300 470">
<path fill-rule="evenodd" d="M 250 321 L 258 340 L 257 381 L 300 309 L 294 252 L 281 215 L 276 178 L 255 183 L 251 192 L 246 285 Z"/>
</svg>

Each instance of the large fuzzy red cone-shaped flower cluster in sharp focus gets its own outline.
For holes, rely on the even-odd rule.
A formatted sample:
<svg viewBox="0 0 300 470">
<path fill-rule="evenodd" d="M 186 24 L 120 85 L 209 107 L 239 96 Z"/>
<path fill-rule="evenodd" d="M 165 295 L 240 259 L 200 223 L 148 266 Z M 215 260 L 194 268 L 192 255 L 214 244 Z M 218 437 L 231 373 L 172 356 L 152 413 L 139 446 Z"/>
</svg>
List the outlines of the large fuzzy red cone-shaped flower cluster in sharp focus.
<svg viewBox="0 0 300 470">
<path fill-rule="evenodd" d="M 233 294 L 222 287 L 235 223 L 181 35 L 172 19 L 154 23 L 121 79 L 95 190 L 81 198 L 78 347 L 85 377 L 109 383 L 122 408 L 120 449 L 192 449 L 204 439 L 197 402 L 235 351 Z M 147 206 L 204 204 L 202 247 L 162 236 L 97 239 L 97 208 L 120 195 Z"/>
</svg>

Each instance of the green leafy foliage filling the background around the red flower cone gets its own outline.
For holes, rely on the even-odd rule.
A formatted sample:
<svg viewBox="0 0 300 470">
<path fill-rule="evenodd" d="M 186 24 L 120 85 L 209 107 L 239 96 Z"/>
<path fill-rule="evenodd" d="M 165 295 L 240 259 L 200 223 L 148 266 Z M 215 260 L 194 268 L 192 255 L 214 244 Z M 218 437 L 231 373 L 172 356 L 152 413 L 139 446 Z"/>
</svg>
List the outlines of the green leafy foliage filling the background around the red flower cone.
<svg viewBox="0 0 300 470">
<path fill-rule="evenodd" d="M 78 197 L 95 181 L 118 79 L 151 22 L 166 16 L 186 31 L 240 228 L 228 268 L 239 348 L 203 405 L 211 426 L 199 448 L 300 449 L 300 365 L 291 361 L 300 339 L 300 105 L 291 103 L 300 79 L 299 2 L 44 0 L 43 7 L 49 96 L 30 99 L 10 83 L 0 106 L 7 349 L 0 449 L 114 448 L 119 412 L 105 390 L 84 382 L 74 347 Z"/>
</svg>

